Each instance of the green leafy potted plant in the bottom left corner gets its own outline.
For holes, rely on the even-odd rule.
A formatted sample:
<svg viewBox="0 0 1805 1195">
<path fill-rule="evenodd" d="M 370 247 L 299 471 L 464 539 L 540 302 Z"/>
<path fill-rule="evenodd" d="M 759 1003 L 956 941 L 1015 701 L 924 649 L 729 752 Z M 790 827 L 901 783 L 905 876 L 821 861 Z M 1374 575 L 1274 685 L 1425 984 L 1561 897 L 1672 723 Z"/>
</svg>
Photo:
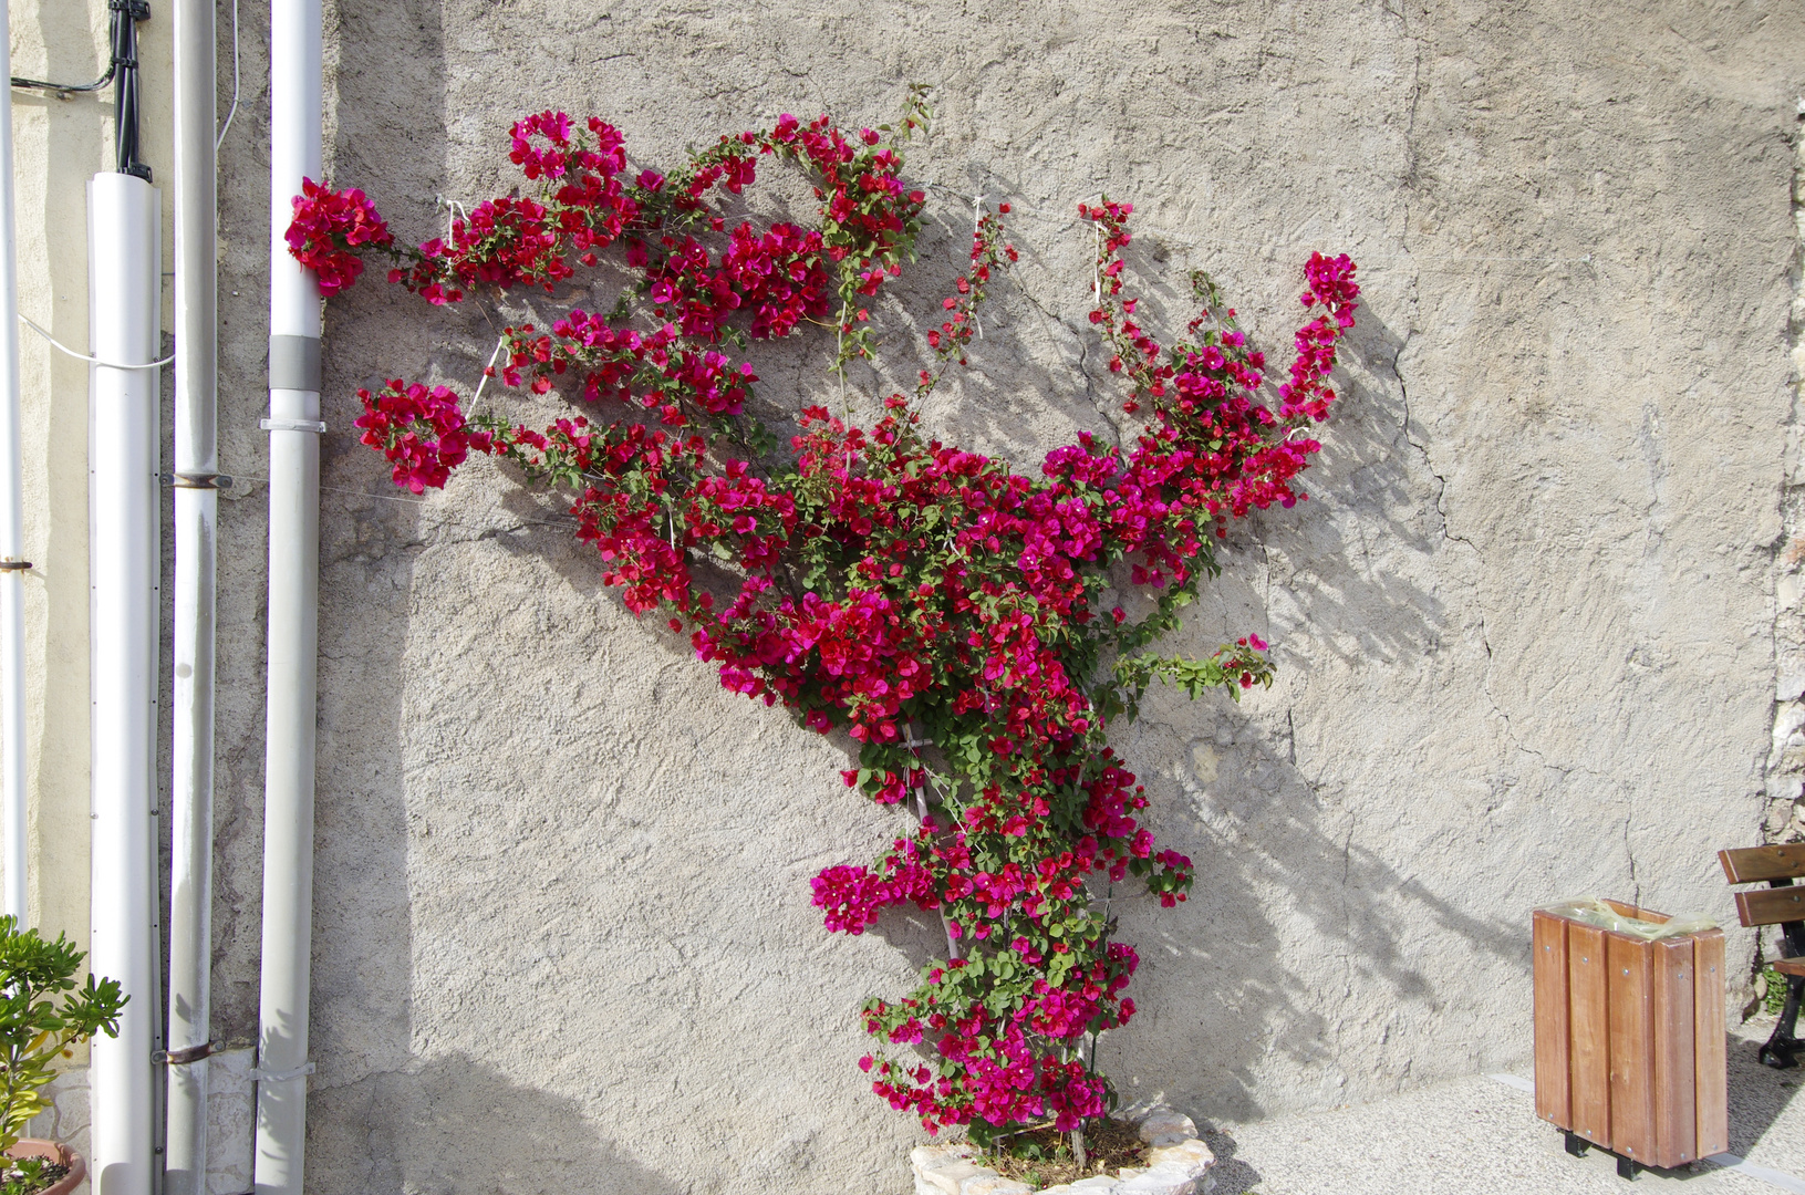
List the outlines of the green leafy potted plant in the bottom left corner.
<svg viewBox="0 0 1805 1195">
<path fill-rule="evenodd" d="M 0 917 L 0 1195 L 65 1195 L 87 1177 L 67 1144 L 20 1135 L 51 1107 L 43 1088 L 56 1078 L 56 1060 L 72 1058 L 96 1033 L 119 1034 L 126 1002 L 119 980 L 88 975 L 78 989 L 83 959 L 61 933 L 47 942 Z"/>
</svg>

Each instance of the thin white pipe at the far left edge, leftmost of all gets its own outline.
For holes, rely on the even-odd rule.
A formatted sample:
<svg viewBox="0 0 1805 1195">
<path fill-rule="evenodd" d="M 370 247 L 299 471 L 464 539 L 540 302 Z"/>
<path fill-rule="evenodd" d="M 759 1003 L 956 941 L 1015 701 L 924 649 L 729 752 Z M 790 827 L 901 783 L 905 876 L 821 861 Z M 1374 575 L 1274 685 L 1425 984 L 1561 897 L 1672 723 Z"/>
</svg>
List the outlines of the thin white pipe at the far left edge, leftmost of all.
<svg viewBox="0 0 1805 1195">
<path fill-rule="evenodd" d="M 0 29 L 7 27 L 0 0 Z M 13 47 L 0 38 L 0 74 Z M 13 92 L 0 96 L 0 859 L 4 908 L 29 922 L 25 888 L 25 487 L 18 424 L 18 253 L 13 220 Z"/>
</svg>

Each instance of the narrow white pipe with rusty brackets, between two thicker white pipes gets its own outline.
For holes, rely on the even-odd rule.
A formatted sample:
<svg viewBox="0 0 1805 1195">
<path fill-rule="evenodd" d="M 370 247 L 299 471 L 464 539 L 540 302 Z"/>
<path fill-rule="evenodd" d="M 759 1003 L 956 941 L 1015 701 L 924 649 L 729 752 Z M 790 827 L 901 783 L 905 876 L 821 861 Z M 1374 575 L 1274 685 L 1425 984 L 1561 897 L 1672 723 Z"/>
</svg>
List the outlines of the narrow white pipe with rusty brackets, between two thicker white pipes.
<svg viewBox="0 0 1805 1195">
<path fill-rule="evenodd" d="M 175 706 L 164 1195 L 204 1195 L 213 953 L 213 617 L 218 354 L 213 0 L 177 0 Z"/>
</svg>

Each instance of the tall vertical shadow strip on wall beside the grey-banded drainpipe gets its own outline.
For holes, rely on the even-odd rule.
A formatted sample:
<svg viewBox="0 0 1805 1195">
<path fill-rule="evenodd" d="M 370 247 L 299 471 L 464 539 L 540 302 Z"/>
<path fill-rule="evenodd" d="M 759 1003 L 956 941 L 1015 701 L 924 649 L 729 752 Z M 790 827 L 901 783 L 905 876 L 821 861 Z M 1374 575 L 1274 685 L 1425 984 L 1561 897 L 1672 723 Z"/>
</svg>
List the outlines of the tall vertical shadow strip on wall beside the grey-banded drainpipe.
<svg viewBox="0 0 1805 1195">
<path fill-rule="evenodd" d="M 249 16 L 251 9 L 247 9 Z M 437 220 L 431 195 L 444 191 L 444 45 L 435 0 L 352 4 L 336 9 L 336 123 L 330 123 L 327 173 L 356 179 L 375 195 L 393 195 L 397 236 L 422 240 Z M 258 16 L 256 20 L 264 20 Z M 240 116 L 242 119 L 242 116 Z M 310 1054 L 319 1070 L 309 1079 L 307 1190 L 404 1190 L 403 1163 L 417 1141 L 440 1153 L 435 1173 L 509 1173 L 536 1152 L 556 1157 L 554 1143 L 532 1139 L 520 1121 L 511 1141 L 487 1126 L 509 1123 L 491 1107 L 471 1108 L 491 1085 L 475 1081 L 477 1065 L 439 1063 L 422 1076 L 412 1042 L 413 937 L 408 892 L 408 816 L 404 800 L 403 688 L 413 567 L 421 551 L 419 507 L 377 478 L 357 444 L 354 397 L 370 383 L 354 370 L 395 354 L 381 339 L 377 314 L 384 287 L 354 287 L 327 305 L 321 516 L 319 516 L 319 747 L 314 814 L 314 913 Z M 419 325 L 415 325 L 419 327 Z M 422 334 L 437 339 L 437 327 Z M 419 343 L 403 354 L 421 352 Z M 384 361 L 412 368 L 408 359 Z M 359 496 L 368 493 L 370 496 Z M 381 495 L 381 496 L 375 496 Z M 410 1117 L 435 1116 L 412 1096 L 437 1078 L 446 1108 L 473 1112 L 464 1134 L 419 1135 Z M 462 1079 L 462 1083 L 460 1083 Z M 457 1096 L 457 1088 L 466 1092 Z M 529 1092 L 514 1092 L 525 1105 Z M 493 1101 L 491 1101 L 493 1103 Z M 560 1123 L 545 1108 L 540 1125 Z M 572 1141 L 581 1137 L 572 1135 Z M 397 1153 L 397 1150 L 404 1150 Z M 428 1159 L 430 1161 L 430 1159 Z M 428 1188 L 408 1188 L 428 1190 Z M 449 1179 L 430 1188 L 453 1190 Z M 504 1190 L 469 1186 L 458 1190 Z M 522 1186 L 507 1190 L 552 1190 Z"/>
</svg>

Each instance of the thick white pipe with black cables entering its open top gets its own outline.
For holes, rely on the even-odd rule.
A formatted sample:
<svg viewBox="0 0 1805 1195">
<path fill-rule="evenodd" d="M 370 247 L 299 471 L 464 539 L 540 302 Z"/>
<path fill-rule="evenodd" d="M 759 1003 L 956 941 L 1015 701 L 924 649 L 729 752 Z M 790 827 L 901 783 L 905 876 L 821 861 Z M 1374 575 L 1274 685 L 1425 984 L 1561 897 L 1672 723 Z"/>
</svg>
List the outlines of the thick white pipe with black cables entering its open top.
<svg viewBox="0 0 1805 1195">
<path fill-rule="evenodd" d="M 92 352 L 157 359 L 159 195 L 143 179 L 88 182 Z M 157 370 L 90 366 L 92 950 L 128 996 L 117 1038 L 90 1052 L 90 1177 L 97 1195 L 148 1195 L 157 1049 Z"/>
</svg>

